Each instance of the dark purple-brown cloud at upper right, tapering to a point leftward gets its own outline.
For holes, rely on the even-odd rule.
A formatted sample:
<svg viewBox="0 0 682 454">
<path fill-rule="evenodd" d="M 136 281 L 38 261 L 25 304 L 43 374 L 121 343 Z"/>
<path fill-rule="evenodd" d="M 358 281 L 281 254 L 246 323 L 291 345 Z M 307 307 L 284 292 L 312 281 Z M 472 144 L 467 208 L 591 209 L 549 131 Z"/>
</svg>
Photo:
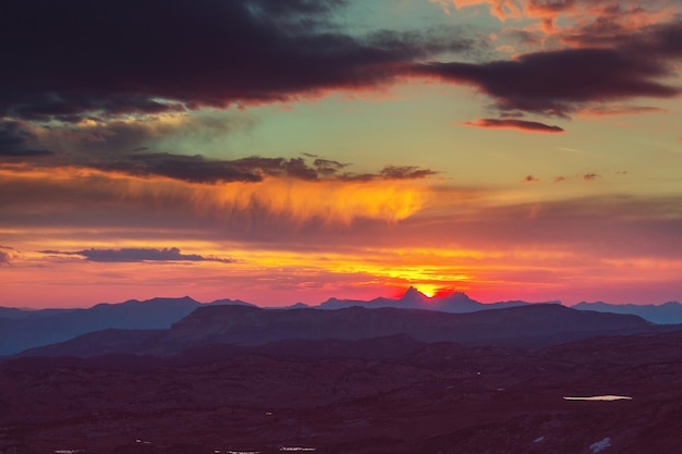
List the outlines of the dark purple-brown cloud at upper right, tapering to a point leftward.
<svg viewBox="0 0 682 454">
<path fill-rule="evenodd" d="M 668 98 L 682 93 L 670 81 L 673 61 L 682 59 L 682 23 L 630 30 L 619 37 L 612 48 L 533 52 L 485 63 L 433 62 L 416 65 L 415 71 L 476 86 L 503 112 L 569 116 L 594 102 Z"/>
</svg>

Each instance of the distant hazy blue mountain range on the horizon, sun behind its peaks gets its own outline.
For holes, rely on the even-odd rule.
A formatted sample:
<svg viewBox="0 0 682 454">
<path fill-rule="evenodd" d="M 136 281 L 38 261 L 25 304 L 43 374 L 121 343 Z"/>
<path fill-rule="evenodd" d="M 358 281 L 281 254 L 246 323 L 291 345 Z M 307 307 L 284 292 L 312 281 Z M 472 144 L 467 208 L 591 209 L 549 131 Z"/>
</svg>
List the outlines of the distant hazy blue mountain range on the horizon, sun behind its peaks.
<svg viewBox="0 0 682 454">
<path fill-rule="evenodd" d="M 449 314 L 471 314 L 535 305 L 521 300 L 479 303 L 466 294 L 455 292 L 442 297 L 427 297 L 410 287 L 400 298 L 379 297 L 372 300 L 330 298 L 318 306 L 296 304 L 288 308 L 336 310 L 351 307 L 426 309 Z M 559 306 L 560 302 L 547 302 Z M 188 316 L 195 309 L 211 306 L 256 307 L 239 299 L 219 299 L 203 304 L 188 296 L 181 298 L 153 298 L 144 302 L 127 300 L 120 304 L 98 304 L 86 309 L 28 310 L 0 307 L 0 355 L 12 355 L 34 348 L 64 342 L 75 336 L 106 329 L 165 330 Z M 599 312 L 633 314 L 655 323 L 682 323 L 682 305 L 667 303 L 660 306 L 609 305 L 606 303 L 581 303 L 575 309 Z M 278 309 L 279 310 L 279 309 Z M 376 335 L 380 335 L 377 333 Z"/>
</svg>

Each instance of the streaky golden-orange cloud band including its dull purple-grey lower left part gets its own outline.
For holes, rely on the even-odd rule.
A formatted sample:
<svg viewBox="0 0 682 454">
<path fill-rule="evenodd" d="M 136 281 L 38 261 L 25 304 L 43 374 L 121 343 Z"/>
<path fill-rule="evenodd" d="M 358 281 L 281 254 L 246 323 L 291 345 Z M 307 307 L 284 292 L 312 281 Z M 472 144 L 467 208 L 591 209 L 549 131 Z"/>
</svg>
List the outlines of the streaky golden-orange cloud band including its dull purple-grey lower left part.
<svg viewBox="0 0 682 454">
<path fill-rule="evenodd" d="M 93 169 L 0 168 L 0 207 L 11 213 L 3 216 L 5 223 L 179 226 L 198 217 L 219 222 L 231 235 L 257 237 L 284 235 L 304 223 L 405 219 L 427 203 L 428 184 L 419 174 L 398 176 L 196 183 Z"/>
</svg>

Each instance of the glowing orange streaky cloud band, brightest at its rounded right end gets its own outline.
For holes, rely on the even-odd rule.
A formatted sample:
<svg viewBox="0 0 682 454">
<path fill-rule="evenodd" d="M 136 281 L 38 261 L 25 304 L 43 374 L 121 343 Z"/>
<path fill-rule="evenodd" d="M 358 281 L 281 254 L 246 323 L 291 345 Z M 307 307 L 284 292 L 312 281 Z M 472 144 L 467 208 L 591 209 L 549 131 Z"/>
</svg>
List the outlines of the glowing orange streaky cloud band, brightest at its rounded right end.
<svg viewBox="0 0 682 454">
<path fill-rule="evenodd" d="M 117 205 L 143 210 L 170 210 L 230 219 L 281 218 L 296 223 L 312 220 L 349 224 L 366 218 L 397 222 L 428 200 L 426 184 L 414 180 L 303 181 L 266 177 L 260 182 L 188 183 L 167 177 L 138 177 L 117 172 L 52 168 L 0 169 L 7 204 L 22 204 L 64 213 L 78 204 L 93 210 Z M 21 194 L 10 197 L 9 188 Z M 24 188 L 24 189 L 21 189 Z M 4 199 L 0 195 L 0 199 Z M 86 209 L 87 211 L 87 209 Z M 85 213 L 82 213 L 86 216 Z"/>
</svg>

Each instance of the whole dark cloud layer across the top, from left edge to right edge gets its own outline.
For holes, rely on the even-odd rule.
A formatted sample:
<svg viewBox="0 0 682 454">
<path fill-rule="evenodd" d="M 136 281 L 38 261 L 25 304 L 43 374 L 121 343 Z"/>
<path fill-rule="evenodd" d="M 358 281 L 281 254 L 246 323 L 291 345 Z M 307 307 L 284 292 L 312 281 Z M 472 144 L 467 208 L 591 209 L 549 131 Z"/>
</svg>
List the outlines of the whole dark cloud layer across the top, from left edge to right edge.
<svg viewBox="0 0 682 454">
<path fill-rule="evenodd" d="M 76 122 L 226 108 L 376 88 L 407 76 L 474 86 L 507 115 L 565 118 L 593 105 L 681 90 L 674 62 L 682 59 L 682 23 L 673 12 L 606 0 L 455 1 L 458 8 L 487 3 L 501 19 L 545 21 L 543 39 L 552 39 L 544 46 L 549 50 L 472 62 L 443 60 L 443 52 L 475 46 L 459 32 L 354 35 L 339 20 L 349 3 L 9 2 L 0 19 L 0 116 Z M 559 17 L 570 25 L 558 28 Z M 21 140 L 8 127 L 0 142 Z M 16 152 L 4 147 L 5 156 Z"/>
</svg>

